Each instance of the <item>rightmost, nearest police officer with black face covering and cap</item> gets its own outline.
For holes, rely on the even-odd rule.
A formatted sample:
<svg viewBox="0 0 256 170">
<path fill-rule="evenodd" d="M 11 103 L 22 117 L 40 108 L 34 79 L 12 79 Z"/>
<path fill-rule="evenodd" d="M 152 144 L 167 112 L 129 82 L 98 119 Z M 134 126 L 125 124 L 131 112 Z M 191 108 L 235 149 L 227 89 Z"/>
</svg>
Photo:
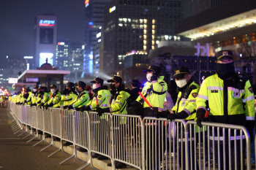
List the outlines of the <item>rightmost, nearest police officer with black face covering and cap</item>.
<svg viewBox="0 0 256 170">
<path fill-rule="evenodd" d="M 254 125 L 255 97 L 249 80 L 236 74 L 233 62 L 233 53 L 230 50 L 222 50 L 217 53 L 216 74 L 207 77 L 201 85 L 197 96 L 197 125 L 201 126 L 206 109 L 210 109 L 208 120 L 213 123 L 228 123 L 234 125 Z M 247 126 L 248 128 L 248 126 Z M 252 130 L 249 128 L 249 131 Z M 222 131 L 220 130 L 220 133 Z M 227 133 L 226 133 L 227 134 Z M 239 133 L 238 133 L 239 134 Z M 217 134 L 215 134 L 217 135 Z M 239 136 L 239 135 L 238 135 Z M 226 137 L 227 139 L 228 137 Z M 225 141 L 221 144 L 221 152 Z M 239 143 L 239 142 L 237 142 Z M 237 144 L 240 150 L 240 144 Z M 226 154 L 228 146 L 225 146 Z M 231 142 L 231 158 L 226 156 L 226 169 L 231 159 L 232 169 L 235 169 L 234 142 Z M 220 153 L 221 169 L 223 168 L 223 153 Z M 217 155 L 216 155 L 217 156 Z M 241 168 L 240 154 L 237 154 L 237 168 Z"/>
</svg>

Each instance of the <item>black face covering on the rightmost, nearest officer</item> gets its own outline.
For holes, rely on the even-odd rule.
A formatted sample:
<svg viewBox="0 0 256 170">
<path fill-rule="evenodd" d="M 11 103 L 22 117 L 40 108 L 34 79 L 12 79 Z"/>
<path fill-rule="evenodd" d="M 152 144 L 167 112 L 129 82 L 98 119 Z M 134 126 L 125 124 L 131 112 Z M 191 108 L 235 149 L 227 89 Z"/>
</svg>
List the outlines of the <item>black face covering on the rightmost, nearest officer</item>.
<svg viewBox="0 0 256 170">
<path fill-rule="evenodd" d="M 234 63 L 217 63 L 216 72 L 222 80 L 233 77 L 236 74 Z"/>
</svg>

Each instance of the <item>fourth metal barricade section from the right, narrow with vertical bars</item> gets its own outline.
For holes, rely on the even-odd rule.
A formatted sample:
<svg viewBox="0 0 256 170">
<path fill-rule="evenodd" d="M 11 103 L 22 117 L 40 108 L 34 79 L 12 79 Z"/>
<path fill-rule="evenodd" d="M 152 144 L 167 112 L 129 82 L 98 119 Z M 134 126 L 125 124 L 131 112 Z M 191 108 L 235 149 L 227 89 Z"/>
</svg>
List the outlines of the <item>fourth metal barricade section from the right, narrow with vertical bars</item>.
<svg viewBox="0 0 256 170">
<path fill-rule="evenodd" d="M 111 153 L 111 114 L 105 113 L 99 117 L 97 112 L 90 112 L 89 125 L 91 132 L 91 152 L 110 158 L 113 163 Z M 89 155 L 91 158 L 91 155 Z"/>
</svg>

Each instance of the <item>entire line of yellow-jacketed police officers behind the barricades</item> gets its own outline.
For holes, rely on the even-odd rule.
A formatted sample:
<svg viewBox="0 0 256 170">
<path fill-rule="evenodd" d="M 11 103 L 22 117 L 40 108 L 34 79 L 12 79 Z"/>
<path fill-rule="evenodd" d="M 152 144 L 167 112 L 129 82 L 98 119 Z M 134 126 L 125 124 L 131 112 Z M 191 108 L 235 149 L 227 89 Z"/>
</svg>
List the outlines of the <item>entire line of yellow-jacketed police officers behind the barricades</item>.
<svg viewBox="0 0 256 170">
<path fill-rule="evenodd" d="M 146 69 L 148 81 L 142 90 L 143 96 L 152 107 L 141 96 L 138 96 L 137 100 L 129 104 L 130 107 L 127 108 L 127 98 L 130 95 L 124 90 L 122 79 L 118 76 L 113 76 L 111 80 L 108 80 L 108 82 L 111 82 L 110 90 L 102 87 L 104 81 L 99 77 L 91 81 L 94 93 L 91 100 L 86 92 L 86 83 L 80 81 L 76 84 L 78 93 L 75 92 L 75 85 L 72 82 L 68 82 L 67 88 L 62 95 L 57 90 L 56 85 L 50 86 L 50 92 L 44 87 L 37 88 L 35 86 L 33 92 L 25 90 L 23 95 L 19 94 L 12 98 L 12 101 L 15 101 L 17 104 L 42 106 L 45 109 L 55 107 L 79 111 L 94 110 L 98 112 L 99 116 L 104 112 L 127 114 L 128 111 L 129 114 L 138 114 L 142 115 L 142 117 L 167 117 L 168 120 L 196 120 L 197 125 L 200 127 L 202 126 L 201 122 L 206 119 L 206 110 L 209 109 L 210 112 L 207 118 L 209 122 L 246 125 L 249 131 L 252 131 L 254 128 L 255 96 L 252 86 L 249 80 L 246 80 L 241 74 L 236 74 L 233 53 L 230 50 L 222 50 L 217 53 L 217 73 L 207 77 L 201 87 L 192 80 L 192 74 L 186 67 L 176 69 L 173 77 L 178 86 L 178 98 L 173 109 L 166 111 L 163 111 L 163 106 L 167 84 L 164 77 L 160 75 L 158 66 L 149 66 Z M 141 114 L 142 112 L 143 114 Z M 151 133 L 151 125 L 146 125 L 146 128 Z M 158 132 L 160 127 L 155 125 L 154 128 Z M 157 136 L 161 138 L 161 134 L 157 134 Z M 223 142 L 222 145 L 225 145 L 225 143 L 227 142 Z M 154 148 L 158 143 L 154 145 L 148 147 Z M 158 147 L 156 148 L 154 154 L 158 155 L 159 150 Z M 227 150 L 227 146 L 225 148 Z M 151 153 L 148 152 L 148 156 L 149 154 Z M 230 158 L 232 166 L 234 166 L 234 154 L 232 149 L 232 158 Z M 221 167 L 223 169 L 223 154 L 220 155 Z M 229 166 L 228 159 L 226 158 L 226 169 Z M 151 155 L 151 160 L 147 160 L 147 166 L 151 166 L 149 164 L 154 161 L 154 155 Z M 239 166 L 240 163 L 240 158 L 238 158 L 238 169 L 241 167 Z M 159 168 L 158 161 L 154 165 L 157 169 Z M 116 167 L 124 168 L 126 166 L 124 163 L 119 163 Z"/>
</svg>

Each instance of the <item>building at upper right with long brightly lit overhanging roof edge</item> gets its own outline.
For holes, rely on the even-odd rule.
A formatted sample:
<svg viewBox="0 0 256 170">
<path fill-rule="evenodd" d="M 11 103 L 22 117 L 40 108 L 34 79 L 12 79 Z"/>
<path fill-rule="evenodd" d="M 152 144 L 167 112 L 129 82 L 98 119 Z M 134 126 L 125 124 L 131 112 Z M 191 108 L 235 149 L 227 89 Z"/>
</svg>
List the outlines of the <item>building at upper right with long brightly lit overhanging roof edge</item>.
<svg viewBox="0 0 256 170">
<path fill-rule="evenodd" d="M 197 7 L 195 1 L 187 3 Z M 255 30 L 256 1 L 225 0 L 195 14 L 192 12 L 179 24 L 178 35 L 191 39 L 196 47 L 211 49 L 209 55 L 219 50 L 232 50 L 238 71 L 254 77 L 252 84 L 256 84 L 256 61 L 252 60 L 256 56 Z M 252 67 L 244 69 L 248 64 Z M 248 70 L 254 72 L 244 72 Z"/>
</svg>

